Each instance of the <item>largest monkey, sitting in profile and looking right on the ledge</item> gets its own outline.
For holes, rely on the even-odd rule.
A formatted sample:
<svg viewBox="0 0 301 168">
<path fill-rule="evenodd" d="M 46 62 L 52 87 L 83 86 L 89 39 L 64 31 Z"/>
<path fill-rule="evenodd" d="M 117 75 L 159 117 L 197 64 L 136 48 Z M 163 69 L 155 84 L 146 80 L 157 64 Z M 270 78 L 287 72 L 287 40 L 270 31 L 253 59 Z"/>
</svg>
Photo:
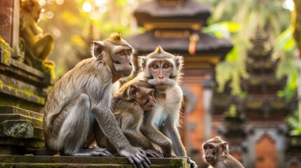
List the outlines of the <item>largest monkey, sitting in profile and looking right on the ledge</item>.
<svg viewBox="0 0 301 168">
<path fill-rule="evenodd" d="M 95 125 L 98 125 L 119 155 L 134 167 L 149 167 L 151 162 L 145 152 L 131 146 L 111 109 L 112 83 L 131 74 L 133 52 L 133 47 L 119 33 L 104 41 L 93 41 L 92 57 L 83 59 L 55 83 L 44 108 L 48 151 L 61 155 L 111 156 L 107 149 L 88 148 L 95 140 Z"/>
</svg>

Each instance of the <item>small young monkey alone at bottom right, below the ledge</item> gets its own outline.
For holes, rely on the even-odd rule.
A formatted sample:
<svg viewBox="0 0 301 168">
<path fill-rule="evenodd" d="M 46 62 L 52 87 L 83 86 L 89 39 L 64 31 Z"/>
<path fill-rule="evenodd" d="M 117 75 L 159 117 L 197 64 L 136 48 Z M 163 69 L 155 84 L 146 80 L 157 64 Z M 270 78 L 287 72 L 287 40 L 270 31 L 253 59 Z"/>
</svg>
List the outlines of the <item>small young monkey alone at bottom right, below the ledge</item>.
<svg viewBox="0 0 301 168">
<path fill-rule="evenodd" d="M 214 168 L 244 168 L 241 162 L 229 154 L 227 141 L 220 137 L 209 139 L 203 144 L 203 158 Z"/>
</svg>

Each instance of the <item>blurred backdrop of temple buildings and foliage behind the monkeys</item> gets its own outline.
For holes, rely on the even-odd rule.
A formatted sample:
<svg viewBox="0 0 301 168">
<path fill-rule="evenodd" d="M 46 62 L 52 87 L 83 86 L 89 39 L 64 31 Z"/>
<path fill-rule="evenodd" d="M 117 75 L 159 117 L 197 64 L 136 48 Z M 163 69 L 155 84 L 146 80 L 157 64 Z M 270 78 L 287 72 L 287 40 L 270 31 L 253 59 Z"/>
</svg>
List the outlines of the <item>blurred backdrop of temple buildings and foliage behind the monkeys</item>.
<svg viewBox="0 0 301 168">
<path fill-rule="evenodd" d="M 138 55 L 161 45 L 185 57 L 180 130 L 199 167 L 206 167 L 201 144 L 214 136 L 228 141 L 245 167 L 301 167 L 301 9 L 293 0 L 39 3 L 39 25 L 55 38 L 48 59 L 55 62 L 56 80 L 91 57 L 93 40 L 116 31 Z"/>
</svg>

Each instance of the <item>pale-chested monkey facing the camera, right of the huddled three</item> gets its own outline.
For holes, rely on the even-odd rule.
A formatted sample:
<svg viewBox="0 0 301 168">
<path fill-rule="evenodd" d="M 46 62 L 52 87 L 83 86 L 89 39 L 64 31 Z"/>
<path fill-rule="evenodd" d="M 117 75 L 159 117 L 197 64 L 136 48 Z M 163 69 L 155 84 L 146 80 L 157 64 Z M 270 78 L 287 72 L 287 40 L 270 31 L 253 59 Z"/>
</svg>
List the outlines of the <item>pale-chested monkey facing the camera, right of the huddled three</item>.
<svg viewBox="0 0 301 168">
<path fill-rule="evenodd" d="M 133 80 L 145 80 L 154 85 L 157 101 L 151 113 L 145 113 L 142 134 L 156 144 L 171 146 L 177 157 L 187 158 L 192 167 L 197 167 L 196 163 L 187 157 L 178 130 L 183 101 L 180 87 L 183 57 L 165 52 L 158 46 L 149 55 L 140 56 L 137 64 L 138 75 Z M 171 151 L 163 151 L 163 155 L 170 157 Z"/>
</svg>

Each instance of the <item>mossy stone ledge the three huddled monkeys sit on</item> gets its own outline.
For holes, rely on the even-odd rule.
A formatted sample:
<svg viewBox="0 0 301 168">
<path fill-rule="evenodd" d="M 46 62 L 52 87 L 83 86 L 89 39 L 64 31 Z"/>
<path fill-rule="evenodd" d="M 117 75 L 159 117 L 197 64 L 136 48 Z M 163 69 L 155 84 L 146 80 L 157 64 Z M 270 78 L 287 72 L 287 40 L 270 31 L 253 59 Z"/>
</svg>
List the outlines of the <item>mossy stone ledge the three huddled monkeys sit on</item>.
<svg viewBox="0 0 301 168">
<path fill-rule="evenodd" d="M 189 168 L 185 158 L 149 158 L 149 167 Z M 0 155 L 1 167 L 132 167 L 123 157 Z"/>
</svg>

